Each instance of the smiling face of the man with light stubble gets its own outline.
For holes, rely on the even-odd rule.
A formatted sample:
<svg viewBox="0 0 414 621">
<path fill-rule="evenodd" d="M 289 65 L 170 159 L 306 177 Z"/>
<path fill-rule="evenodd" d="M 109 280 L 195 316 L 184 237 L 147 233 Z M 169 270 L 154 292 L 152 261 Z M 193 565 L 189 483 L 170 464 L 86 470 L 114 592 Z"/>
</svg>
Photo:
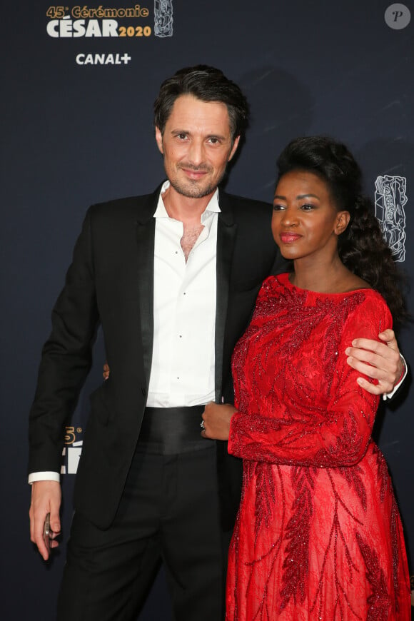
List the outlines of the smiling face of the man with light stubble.
<svg viewBox="0 0 414 621">
<path fill-rule="evenodd" d="M 225 104 L 182 95 L 162 135 L 156 127 L 156 141 L 171 186 L 188 198 L 202 198 L 216 190 L 236 153 L 239 136 L 232 145 Z"/>
</svg>

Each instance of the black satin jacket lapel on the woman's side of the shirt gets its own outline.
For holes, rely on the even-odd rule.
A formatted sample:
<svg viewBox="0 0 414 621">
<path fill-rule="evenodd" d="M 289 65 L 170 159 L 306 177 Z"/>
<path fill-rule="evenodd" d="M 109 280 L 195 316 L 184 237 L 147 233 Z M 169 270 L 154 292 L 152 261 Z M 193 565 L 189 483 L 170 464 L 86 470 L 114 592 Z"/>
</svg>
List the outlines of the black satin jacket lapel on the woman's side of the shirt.
<svg viewBox="0 0 414 621">
<path fill-rule="evenodd" d="M 221 213 L 217 225 L 217 302 L 216 302 L 216 403 L 221 403 L 223 384 L 223 344 L 226 330 L 228 291 L 230 287 L 231 260 L 236 241 L 237 225 L 233 222 L 233 208 L 227 194 L 219 193 Z"/>
</svg>

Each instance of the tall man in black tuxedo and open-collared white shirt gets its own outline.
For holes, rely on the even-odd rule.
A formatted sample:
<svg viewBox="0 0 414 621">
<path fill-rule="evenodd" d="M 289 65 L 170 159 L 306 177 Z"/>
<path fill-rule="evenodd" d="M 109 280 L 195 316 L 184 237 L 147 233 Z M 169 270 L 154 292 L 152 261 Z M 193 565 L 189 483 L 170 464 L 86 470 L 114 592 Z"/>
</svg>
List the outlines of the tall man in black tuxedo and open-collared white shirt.
<svg viewBox="0 0 414 621">
<path fill-rule="evenodd" d="M 201 417 L 206 403 L 231 403 L 233 346 L 282 266 L 271 208 L 217 189 L 248 121 L 238 86 L 211 67 L 183 69 L 154 107 L 168 181 L 89 209 L 31 409 L 31 539 L 46 559 L 47 513 L 60 530 L 64 427 L 101 322 L 111 374 L 91 396 L 59 621 L 134 619 L 160 557 L 177 620 L 224 615 L 241 464 L 201 437 Z M 385 340 L 350 351 L 380 379 L 365 382 L 371 391 L 400 373 L 393 334 Z"/>
</svg>

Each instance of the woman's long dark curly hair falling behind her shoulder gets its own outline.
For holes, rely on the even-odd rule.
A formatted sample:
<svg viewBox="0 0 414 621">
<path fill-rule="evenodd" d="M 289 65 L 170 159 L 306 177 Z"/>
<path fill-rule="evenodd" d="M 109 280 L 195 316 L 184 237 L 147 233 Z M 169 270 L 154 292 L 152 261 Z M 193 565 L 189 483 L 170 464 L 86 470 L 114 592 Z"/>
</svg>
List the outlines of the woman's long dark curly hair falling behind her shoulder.
<svg viewBox="0 0 414 621">
<path fill-rule="evenodd" d="M 293 170 L 318 175 L 327 184 L 338 211 L 350 213 L 348 227 L 338 237 L 340 260 L 381 293 L 395 325 L 407 319 L 401 293 L 405 278 L 383 238 L 372 201 L 363 196 L 362 172 L 348 148 L 326 136 L 296 138 L 278 158 L 278 181 Z"/>
</svg>

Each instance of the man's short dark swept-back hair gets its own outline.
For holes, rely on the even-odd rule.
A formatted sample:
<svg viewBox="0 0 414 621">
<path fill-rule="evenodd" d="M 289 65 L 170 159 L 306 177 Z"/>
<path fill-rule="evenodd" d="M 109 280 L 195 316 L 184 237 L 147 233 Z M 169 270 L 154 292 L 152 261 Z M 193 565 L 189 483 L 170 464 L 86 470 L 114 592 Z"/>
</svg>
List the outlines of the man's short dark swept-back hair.
<svg viewBox="0 0 414 621">
<path fill-rule="evenodd" d="M 181 95 L 192 95 L 201 101 L 225 104 L 230 120 L 231 140 L 243 136 L 248 126 L 248 103 L 241 89 L 226 78 L 223 71 L 207 65 L 179 69 L 161 84 L 154 102 L 154 124 L 164 133 L 173 105 Z"/>
</svg>

